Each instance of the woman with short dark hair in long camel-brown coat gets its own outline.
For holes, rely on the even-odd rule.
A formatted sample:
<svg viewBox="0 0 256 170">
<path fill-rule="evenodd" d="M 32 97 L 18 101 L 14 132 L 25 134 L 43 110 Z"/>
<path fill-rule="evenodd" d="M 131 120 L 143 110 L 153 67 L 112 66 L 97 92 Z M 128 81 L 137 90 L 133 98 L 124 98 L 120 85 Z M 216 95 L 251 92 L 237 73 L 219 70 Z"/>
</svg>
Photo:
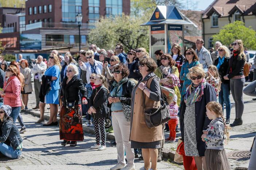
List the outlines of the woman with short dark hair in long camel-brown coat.
<svg viewBox="0 0 256 170">
<path fill-rule="evenodd" d="M 144 167 L 141 170 L 157 170 L 158 149 L 162 147 L 162 125 L 148 128 L 143 106 L 143 99 L 146 110 L 160 106 L 161 90 L 159 78 L 154 73 L 156 68 L 156 62 L 152 58 L 140 60 L 139 70 L 142 78 L 132 90 L 130 140 L 131 148 L 142 149 Z"/>
</svg>

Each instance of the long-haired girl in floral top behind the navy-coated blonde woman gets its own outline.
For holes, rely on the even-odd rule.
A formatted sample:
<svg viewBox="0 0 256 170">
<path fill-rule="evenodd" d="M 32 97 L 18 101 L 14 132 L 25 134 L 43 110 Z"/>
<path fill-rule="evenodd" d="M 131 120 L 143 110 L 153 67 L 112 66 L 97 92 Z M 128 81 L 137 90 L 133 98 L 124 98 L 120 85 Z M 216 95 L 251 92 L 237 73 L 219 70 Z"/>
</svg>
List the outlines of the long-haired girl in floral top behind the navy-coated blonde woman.
<svg viewBox="0 0 256 170">
<path fill-rule="evenodd" d="M 209 66 L 208 76 L 206 77 L 206 81 L 214 87 L 217 94 L 217 101 L 218 101 L 219 91 L 221 88 L 221 80 L 220 80 L 218 69 L 215 65 Z"/>
</svg>

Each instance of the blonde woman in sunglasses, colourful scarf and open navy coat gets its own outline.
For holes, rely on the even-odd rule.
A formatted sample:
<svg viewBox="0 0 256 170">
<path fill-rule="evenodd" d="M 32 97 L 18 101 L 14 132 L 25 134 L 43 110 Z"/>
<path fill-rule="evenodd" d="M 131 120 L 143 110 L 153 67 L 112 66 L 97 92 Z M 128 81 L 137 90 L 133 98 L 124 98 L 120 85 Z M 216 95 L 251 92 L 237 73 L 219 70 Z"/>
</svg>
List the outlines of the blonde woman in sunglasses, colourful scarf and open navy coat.
<svg viewBox="0 0 256 170">
<path fill-rule="evenodd" d="M 187 51 L 186 51 L 187 52 Z M 206 105 L 216 101 L 216 91 L 206 82 L 205 72 L 200 66 L 189 69 L 187 78 L 192 81 L 181 102 L 180 124 L 185 155 L 194 157 L 198 170 L 205 166 L 205 142 L 200 138 L 211 120 L 206 116 Z M 204 167 L 206 168 L 206 167 Z"/>
</svg>

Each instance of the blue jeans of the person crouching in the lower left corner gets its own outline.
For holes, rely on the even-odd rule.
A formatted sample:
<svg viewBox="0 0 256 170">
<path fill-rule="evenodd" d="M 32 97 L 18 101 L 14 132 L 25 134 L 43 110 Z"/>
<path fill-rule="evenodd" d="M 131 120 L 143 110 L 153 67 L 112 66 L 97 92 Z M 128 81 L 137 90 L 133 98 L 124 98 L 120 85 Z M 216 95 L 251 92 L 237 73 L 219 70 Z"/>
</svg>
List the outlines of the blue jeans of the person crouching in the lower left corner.
<svg viewBox="0 0 256 170">
<path fill-rule="evenodd" d="M 18 159 L 22 154 L 20 149 L 14 150 L 11 146 L 6 145 L 3 142 L 0 142 L 0 152 L 8 158 Z"/>
</svg>

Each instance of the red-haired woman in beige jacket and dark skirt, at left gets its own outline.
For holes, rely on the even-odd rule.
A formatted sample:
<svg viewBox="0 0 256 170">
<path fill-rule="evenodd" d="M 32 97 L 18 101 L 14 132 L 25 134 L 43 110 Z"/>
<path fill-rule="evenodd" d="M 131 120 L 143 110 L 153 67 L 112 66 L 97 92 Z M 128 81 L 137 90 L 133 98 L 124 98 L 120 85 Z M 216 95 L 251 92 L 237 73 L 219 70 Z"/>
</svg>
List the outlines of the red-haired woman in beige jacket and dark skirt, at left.
<svg viewBox="0 0 256 170">
<path fill-rule="evenodd" d="M 28 109 L 28 94 L 31 94 L 33 89 L 32 89 L 32 83 L 31 83 L 31 69 L 28 68 L 28 61 L 27 60 L 22 60 L 21 63 L 21 68 L 20 68 L 20 73 L 23 74 L 24 76 L 24 90 L 22 92 L 22 101 L 25 105 L 25 109 Z"/>
</svg>

